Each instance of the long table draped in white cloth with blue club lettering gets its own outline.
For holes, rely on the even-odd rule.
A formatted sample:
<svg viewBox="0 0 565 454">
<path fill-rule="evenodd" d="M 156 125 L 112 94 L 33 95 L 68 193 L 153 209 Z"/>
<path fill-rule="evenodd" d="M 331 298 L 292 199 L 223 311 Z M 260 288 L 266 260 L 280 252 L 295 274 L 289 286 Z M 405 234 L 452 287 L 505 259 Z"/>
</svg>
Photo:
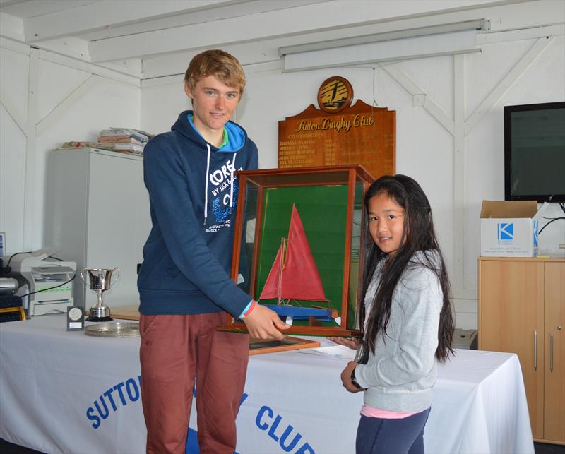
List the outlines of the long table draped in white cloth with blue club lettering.
<svg viewBox="0 0 565 454">
<path fill-rule="evenodd" d="M 0 437 L 45 453 L 145 452 L 139 342 L 67 332 L 61 315 L 0 323 Z M 346 361 L 250 357 L 237 452 L 353 453 L 362 393 L 341 386 Z M 534 453 L 515 354 L 458 350 L 438 375 L 428 453 Z"/>
</svg>

